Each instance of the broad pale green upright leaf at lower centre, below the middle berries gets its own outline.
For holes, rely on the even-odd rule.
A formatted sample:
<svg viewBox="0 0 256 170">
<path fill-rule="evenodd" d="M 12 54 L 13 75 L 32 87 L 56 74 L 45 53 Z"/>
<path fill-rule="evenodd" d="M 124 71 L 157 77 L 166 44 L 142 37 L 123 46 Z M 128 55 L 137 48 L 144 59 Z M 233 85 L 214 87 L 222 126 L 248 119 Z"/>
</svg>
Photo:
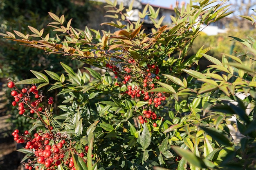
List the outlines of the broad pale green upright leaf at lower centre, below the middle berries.
<svg viewBox="0 0 256 170">
<path fill-rule="evenodd" d="M 140 145 L 138 146 L 138 148 L 141 148 L 142 150 L 146 150 L 146 148 L 148 148 L 148 146 L 150 145 L 151 137 L 148 130 L 148 126 L 146 126 L 145 123 L 141 135 L 139 134 L 137 142 Z"/>
</svg>

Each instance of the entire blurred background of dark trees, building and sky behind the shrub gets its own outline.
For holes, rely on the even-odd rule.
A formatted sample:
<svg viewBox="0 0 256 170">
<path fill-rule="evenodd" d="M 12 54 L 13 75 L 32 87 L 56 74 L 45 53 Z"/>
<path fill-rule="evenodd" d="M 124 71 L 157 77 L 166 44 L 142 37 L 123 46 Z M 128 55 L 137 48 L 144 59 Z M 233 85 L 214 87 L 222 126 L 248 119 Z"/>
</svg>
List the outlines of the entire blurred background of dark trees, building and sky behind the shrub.
<svg viewBox="0 0 256 170">
<path fill-rule="evenodd" d="M 132 0 L 118 0 L 118 3 L 124 2 L 124 6 L 129 6 Z M 221 1 L 220 1 L 221 2 Z M 174 8 L 186 7 L 190 0 L 135 0 L 133 5 L 134 13 L 130 16 L 130 20 L 138 19 L 139 11 L 142 11 L 147 3 L 150 3 L 155 10 L 159 10 L 159 18 L 165 16 L 163 25 L 172 26 L 170 15 L 175 17 Z M 244 47 L 235 44 L 229 36 L 246 38 L 248 35 L 255 38 L 256 31 L 252 23 L 238 15 L 249 16 L 254 14 L 256 0 L 229 0 L 231 4 L 229 11 L 235 11 L 234 14 L 227 18 L 222 18 L 218 22 L 211 25 L 203 25 L 202 32 L 193 43 L 193 48 L 189 51 L 189 56 L 194 55 L 203 45 L 213 47 L 207 54 L 220 58 L 222 53 L 232 54 L 244 57 L 246 53 Z M 52 19 L 48 12 L 55 13 L 60 16 L 65 15 L 66 21 L 72 20 L 72 26 L 78 29 L 84 29 L 85 26 L 96 30 L 111 30 L 107 25 L 101 26 L 102 22 L 110 22 L 109 18 L 104 18 L 106 10 L 103 8 L 104 0 L 0 0 L 0 32 L 17 30 L 24 34 L 30 33 L 29 26 L 33 26 L 38 30 L 45 29 L 44 34 L 53 34 L 50 32 L 51 27 L 47 27 Z M 195 4 L 197 5 L 197 4 Z M 146 31 L 150 33 L 153 24 L 150 21 L 146 23 Z M 115 30 L 111 30 L 115 31 Z M 236 51 L 244 53 L 236 53 Z M 189 57 L 188 56 L 188 57 Z M 255 56 L 251 56 L 255 61 Z M 25 117 L 18 115 L 18 110 L 11 106 L 12 99 L 10 97 L 10 89 L 6 86 L 8 77 L 16 82 L 34 77 L 30 70 L 43 72 L 44 70 L 53 71 L 61 74 L 63 69 L 59 62 L 68 64 L 76 70 L 81 68 L 83 63 L 70 60 L 60 55 L 47 55 L 38 49 L 27 48 L 16 42 L 0 39 L 0 169 L 1 170 L 21 170 L 20 159 L 22 155 L 18 155 L 15 151 L 17 146 L 13 142 L 11 133 L 18 128 L 24 131 L 29 128 L 29 124 L 25 124 Z M 204 68 L 208 64 L 202 60 L 200 67 Z M 52 96 L 56 96 L 58 91 L 52 92 Z M 56 108 L 56 107 L 55 107 Z"/>
</svg>

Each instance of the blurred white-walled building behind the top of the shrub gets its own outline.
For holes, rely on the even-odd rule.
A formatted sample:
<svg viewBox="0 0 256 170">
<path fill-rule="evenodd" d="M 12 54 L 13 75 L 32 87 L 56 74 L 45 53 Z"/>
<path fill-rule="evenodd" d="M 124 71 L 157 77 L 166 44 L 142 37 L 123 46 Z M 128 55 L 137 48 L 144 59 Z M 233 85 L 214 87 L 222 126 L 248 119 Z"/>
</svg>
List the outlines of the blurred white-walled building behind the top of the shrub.
<svg viewBox="0 0 256 170">
<path fill-rule="evenodd" d="M 113 20 L 112 18 L 106 18 L 105 15 L 108 15 L 106 13 L 109 9 L 104 9 L 103 7 L 106 5 L 105 0 L 92 0 L 94 2 L 100 2 L 95 3 L 95 9 L 90 12 L 90 21 L 88 22 L 88 26 L 92 29 L 104 29 L 104 30 L 112 30 L 113 28 L 108 25 L 102 25 L 100 26 L 102 22 L 111 22 Z M 114 2 L 115 0 L 111 0 Z M 123 2 L 124 7 L 128 8 L 132 0 L 117 0 L 117 7 L 119 7 L 119 4 Z M 151 5 L 151 4 L 150 4 Z M 177 2 L 176 7 L 182 7 L 183 5 L 186 5 L 185 2 L 181 2 L 180 4 Z M 139 12 L 142 12 L 144 7 L 146 6 L 146 3 L 142 3 L 141 0 L 134 0 L 133 2 L 133 9 L 128 13 L 129 17 L 128 19 L 133 22 L 137 22 L 139 20 Z M 175 16 L 174 7 L 171 5 L 170 7 L 160 7 L 156 5 L 151 5 L 155 11 L 159 8 L 159 15 L 157 19 L 160 19 L 162 16 L 164 16 L 163 25 L 172 25 L 172 20 L 170 15 Z M 226 26 L 230 23 L 230 21 L 226 20 L 218 20 L 217 22 L 210 23 L 207 25 L 201 25 L 201 31 L 206 33 L 207 35 L 217 35 L 218 33 L 225 33 L 228 29 Z M 150 19 L 146 16 L 144 20 L 144 29 L 145 33 L 149 33 L 151 28 L 153 28 L 153 22 L 150 21 Z"/>
</svg>

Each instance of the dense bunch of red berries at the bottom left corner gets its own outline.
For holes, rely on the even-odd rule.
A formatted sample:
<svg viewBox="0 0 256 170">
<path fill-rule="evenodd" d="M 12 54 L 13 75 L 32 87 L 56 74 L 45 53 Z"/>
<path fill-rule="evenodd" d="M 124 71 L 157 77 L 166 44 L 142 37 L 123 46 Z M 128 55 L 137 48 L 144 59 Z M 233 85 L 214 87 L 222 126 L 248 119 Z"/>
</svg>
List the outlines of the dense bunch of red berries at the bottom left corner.
<svg viewBox="0 0 256 170">
<path fill-rule="evenodd" d="M 31 135 L 27 130 L 19 135 L 19 130 L 14 130 L 13 136 L 17 143 L 26 143 L 25 149 L 34 152 L 36 159 L 25 163 L 25 168 L 33 169 L 35 163 L 42 164 L 46 170 L 54 170 L 63 162 L 66 152 L 70 150 L 64 147 L 65 139 L 61 139 L 59 133 L 51 135 L 46 132 L 39 132 Z M 74 168 L 74 165 L 70 168 Z M 36 167 L 38 169 L 38 167 Z M 43 169 L 42 169 L 43 170 Z"/>
</svg>

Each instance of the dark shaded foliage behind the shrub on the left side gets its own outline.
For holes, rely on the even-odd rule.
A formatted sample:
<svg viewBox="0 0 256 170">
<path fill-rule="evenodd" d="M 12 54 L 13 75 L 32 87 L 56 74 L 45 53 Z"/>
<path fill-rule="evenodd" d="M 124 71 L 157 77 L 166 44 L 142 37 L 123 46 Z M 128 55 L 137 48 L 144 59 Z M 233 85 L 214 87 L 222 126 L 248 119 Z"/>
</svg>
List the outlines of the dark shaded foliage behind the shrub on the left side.
<svg viewBox="0 0 256 170">
<path fill-rule="evenodd" d="M 65 14 L 67 18 L 73 18 L 73 24 L 80 28 L 87 21 L 85 18 L 88 16 L 90 6 L 91 3 L 88 1 L 84 5 L 78 6 L 70 0 L 27 0 L 26 3 L 16 0 L 1 0 L 0 31 L 22 30 L 23 33 L 28 33 L 30 31 L 28 26 L 32 26 L 40 29 L 45 28 L 44 33 L 50 33 L 51 29 L 46 27 L 51 22 L 48 11 Z M 72 68 L 79 68 L 83 65 L 83 63 L 77 61 L 70 62 L 69 58 L 63 58 L 59 55 L 46 55 L 38 49 L 26 48 L 10 41 L 1 40 L 0 45 L 0 78 L 2 82 L 6 82 L 7 77 L 13 77 L 16 81 L 32 77 L 33 74 L 29 70 L 43 72 L 47 69 L 58 74 L 63 73 L 59 62 L 69 63 Z M 7 92 L 9 94 L 10 91 L 7 89 Z M 56 96 L 57 93 L 58 91 L 50 92 L 51 96 Z M 11 96 L 7 95 L 7 98 L 11 99 Z M 55 99 L 57 98 L 55 97 Z M 10 100 L 7 100 L 7 102 L 10 102 Z M 55 113 L 57 111 L 56 109 Z M 7 113 L 12 115 L 10 121 L 14 128 L 20 130 L 31 128 L 31 124 L 26 124 L 26 119 L 18 116 L 18 111 L 13 107 L 9 107 Z"/>
</svg>

